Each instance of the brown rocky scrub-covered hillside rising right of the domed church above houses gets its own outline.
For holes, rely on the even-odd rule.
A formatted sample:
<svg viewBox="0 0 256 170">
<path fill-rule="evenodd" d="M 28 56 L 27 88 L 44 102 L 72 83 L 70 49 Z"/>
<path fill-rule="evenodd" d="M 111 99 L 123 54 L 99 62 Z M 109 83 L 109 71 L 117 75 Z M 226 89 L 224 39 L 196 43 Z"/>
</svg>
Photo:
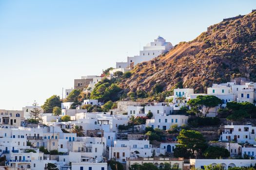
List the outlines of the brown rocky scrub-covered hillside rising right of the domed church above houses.
<svg viewBox="0 0 256 170">
<path fill-rule="evenodd" d="M 120 85 L 134 92 L 150 91 L 155 84 L 164 90 L 183 85 L 203 92 L 236 77 L 256 81 L 256 12 L 210 26 L 193 41 L 138 64 Z"/>
</svg>

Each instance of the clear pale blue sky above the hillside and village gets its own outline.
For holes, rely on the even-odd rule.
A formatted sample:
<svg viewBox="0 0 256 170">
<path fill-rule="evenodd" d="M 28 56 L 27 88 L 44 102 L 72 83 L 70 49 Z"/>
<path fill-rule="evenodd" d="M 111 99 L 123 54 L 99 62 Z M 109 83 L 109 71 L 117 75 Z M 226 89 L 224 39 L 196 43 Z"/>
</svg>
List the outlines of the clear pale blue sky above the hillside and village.
<svg viewBox="0 0 256 170">
<path fill-rule="evenodd" d="M 163 36 L 173 45 L 256 0 L 0 0 L 0 109 L 61 96 Z"/>
</svg>

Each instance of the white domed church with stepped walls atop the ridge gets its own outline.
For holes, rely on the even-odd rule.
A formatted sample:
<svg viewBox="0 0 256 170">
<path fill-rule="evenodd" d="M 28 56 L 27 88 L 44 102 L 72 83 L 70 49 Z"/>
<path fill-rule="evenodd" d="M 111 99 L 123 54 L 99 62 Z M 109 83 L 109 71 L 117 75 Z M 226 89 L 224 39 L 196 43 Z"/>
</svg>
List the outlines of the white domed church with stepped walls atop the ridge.
<svg viewBox="0 0 256 170">
<path fill-rule="evenodd" d="M 153 58 L 171 50 L 172 48 L 172 43 L 166 42 L 163 37 L 158 36 L 154 42 L 150 42 L 145 47 L 143 47 L 143 51 L 139 51 L 139 55 L 135 55 L 134 57 L 127 57 L 127 62 L 117 62 L 116 69 L 130 68 L 132 65 L 136 66 L 138 63 L 152 60 Z"/>
</svg>

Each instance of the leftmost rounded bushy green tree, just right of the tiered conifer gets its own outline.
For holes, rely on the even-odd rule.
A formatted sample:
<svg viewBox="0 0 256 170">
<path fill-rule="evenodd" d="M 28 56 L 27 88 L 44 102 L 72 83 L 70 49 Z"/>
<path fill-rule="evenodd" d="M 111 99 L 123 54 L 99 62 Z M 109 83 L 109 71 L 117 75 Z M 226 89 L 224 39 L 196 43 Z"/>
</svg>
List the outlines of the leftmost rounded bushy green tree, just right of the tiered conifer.
<svg viewBox="0 0 256 170">
<path fill-rule="evenodd" d="M 55 106 L 61 107 L 60 98 L 57 95 L 53 95 L 50 98 L 46 99 L 41 108 L 43 109 L 44 113 L 53 113 L 53 108 Z"/>
</svg>

